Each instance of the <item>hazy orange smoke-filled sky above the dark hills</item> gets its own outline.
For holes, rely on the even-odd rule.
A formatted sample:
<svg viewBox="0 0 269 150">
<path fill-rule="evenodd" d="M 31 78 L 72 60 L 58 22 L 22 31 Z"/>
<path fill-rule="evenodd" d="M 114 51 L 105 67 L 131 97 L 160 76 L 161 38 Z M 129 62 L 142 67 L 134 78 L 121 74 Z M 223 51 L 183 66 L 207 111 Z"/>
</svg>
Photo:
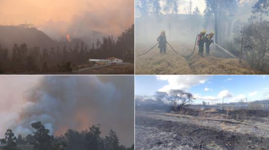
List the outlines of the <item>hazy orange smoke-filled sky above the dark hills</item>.
<svg viewBox="0 0 269 150">
<path fill-rule="evenodd" d="M 134 23 L 134 0 L 0 0 L 0 25 L 27 22 L 64 34 L 83 21 L 83 28 L 119 35 Z"/>
</svg>

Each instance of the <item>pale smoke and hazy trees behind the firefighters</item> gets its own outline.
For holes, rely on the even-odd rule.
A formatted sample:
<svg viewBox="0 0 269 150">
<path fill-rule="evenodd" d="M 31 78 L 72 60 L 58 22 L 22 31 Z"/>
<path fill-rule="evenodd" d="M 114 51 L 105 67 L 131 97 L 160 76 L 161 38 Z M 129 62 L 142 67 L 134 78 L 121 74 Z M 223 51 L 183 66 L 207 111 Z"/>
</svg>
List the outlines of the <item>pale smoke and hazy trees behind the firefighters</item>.
<svg viewBox="0 0 269 150">
<path fill-rule="evenodd" d="M 199 1 L 199 5 L 193 1 Z M 215 32 L 215 43 L 238 58 L 242 48 L 243 60 L 253 69 L 267 73 L 268 3 L 268 0 L 136 0 L 135 11 L 139 14 L 135 16 L 136 42 L 152 45 L 160 31 L 166 30 L 168 42 L 193 46 L 196 36 L 206 29 L 207 33 Z M 203 6 L 204 11 L 200 10 Z M 216 56 L 227 57 L 218 47 L 212 49 L 216 50 Z"/>
</svg>

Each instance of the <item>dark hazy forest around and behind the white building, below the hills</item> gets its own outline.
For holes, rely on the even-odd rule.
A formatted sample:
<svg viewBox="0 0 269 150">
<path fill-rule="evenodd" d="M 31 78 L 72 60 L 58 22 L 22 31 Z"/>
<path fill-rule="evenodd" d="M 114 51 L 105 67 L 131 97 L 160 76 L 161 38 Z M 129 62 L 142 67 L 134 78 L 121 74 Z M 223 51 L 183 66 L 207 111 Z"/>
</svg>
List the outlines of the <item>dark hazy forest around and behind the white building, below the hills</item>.
<svg viewBox="0 0 269 150">
<path fill-rule="evenodd" d="M 125 30 L 115 41 L 113 36 L 97 39 L 90 47 L 83 41 L 74 47 L 65 43 L 63 47 L 50 50 L 29 48 L 26 43 L 14 44 L 10 51 L 0 45 L 0 73 L 22 72 L 69 72 L 72 66 L 87 63 L 90 58 L 117 57 L 125 62 L 134 62 L 134 25 Z"/>
</svg>

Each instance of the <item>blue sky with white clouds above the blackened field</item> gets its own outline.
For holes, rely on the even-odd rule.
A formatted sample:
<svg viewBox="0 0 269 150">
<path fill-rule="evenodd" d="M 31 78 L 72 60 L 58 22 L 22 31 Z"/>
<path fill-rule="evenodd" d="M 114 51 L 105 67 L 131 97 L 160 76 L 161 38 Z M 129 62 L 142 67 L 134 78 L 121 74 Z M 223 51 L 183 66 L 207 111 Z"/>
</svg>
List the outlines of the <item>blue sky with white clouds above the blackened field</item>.
<svg viewBox="0 0 269 150">
<path fill-rule="evenodd" d="M 211 104 L 260 100 L 269 93 L 269 75 L 136 75 L 135 94 L 153 95 L 156 91 L 186 90 Z"/>
</svg>

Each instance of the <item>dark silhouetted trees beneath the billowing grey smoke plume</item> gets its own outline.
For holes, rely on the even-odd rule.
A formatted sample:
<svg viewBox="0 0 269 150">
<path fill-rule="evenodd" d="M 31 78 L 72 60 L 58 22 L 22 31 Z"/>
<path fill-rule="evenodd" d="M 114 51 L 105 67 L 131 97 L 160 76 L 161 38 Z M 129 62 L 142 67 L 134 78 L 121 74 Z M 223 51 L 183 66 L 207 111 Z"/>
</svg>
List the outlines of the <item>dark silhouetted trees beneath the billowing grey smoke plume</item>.
<svg viewBox="0 0 269 150">
<path fill-rule="evenodd" d="M 25 138 L 22 135 L 17 138 L 8 129 L 5 138 L 0 140 L 0 149 L 20 150 L 20 146 L 32 145 L 33 150 L 134 150 L 134 145 L 130 148 L 119 145 L 118 137 L 112 130 L 105 138 L 100 137 L 99 125 L 81 132 L 69 129 L 64 135 L 56 137 L 49 135 L 49 130 L 41 122 L 34 122 L 31 126 L 35 131 Z"/>
</svg>

